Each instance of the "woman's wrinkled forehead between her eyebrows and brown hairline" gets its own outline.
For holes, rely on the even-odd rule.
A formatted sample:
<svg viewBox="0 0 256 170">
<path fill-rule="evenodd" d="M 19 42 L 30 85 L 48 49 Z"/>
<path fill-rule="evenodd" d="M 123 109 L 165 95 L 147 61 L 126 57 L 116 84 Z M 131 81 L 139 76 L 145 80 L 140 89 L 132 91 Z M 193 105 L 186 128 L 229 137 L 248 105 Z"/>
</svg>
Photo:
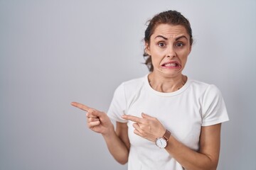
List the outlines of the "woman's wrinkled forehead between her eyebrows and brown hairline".
<svg viewBox="0 0 256 170">
<path fill-rule="evenodd" d="M 176 38 L 180 35 L 185 35 L 188 37 L 188 33 L 184 26 L 174 26 L 167 23 L 162 23 L 159 24 L 159 26 L 156 26 L 154 33 L 151 35 L 151 38 L 155 38 L 157 35 L 163 35 L 166 38 Z"/>
</svg>

